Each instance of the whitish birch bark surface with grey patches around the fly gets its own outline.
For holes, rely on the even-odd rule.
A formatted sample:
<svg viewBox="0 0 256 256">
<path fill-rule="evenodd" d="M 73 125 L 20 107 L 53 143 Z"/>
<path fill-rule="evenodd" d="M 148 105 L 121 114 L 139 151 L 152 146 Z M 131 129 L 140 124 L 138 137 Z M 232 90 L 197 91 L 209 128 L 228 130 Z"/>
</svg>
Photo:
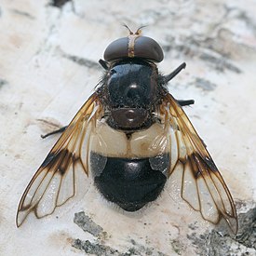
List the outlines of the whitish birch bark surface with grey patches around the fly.
<svg viewBox="0 0 256 256">
<path fill-rule="evenodd" d="M 253 0 L 1 0 L 0 255 L 88 255 L 82 245 L 98 255 L 256 255 L 255 13 Z M 122 23 L 148 25 L 143 34 L 164 48 L 164 74 L 187 63 L 169 91 L 195 100 L 185 111 L 235 198 L 238 238 L 211 231 L 175 184 L 132 214 L 91 185 L 52 216 L 15 226 L 20 195 L 58 138 L 40 135 L 67 125 L 88 99 L 105 47 L 127 35 Z M 80 211 L 84 231 L 74 223 Z"/>
</svg>

